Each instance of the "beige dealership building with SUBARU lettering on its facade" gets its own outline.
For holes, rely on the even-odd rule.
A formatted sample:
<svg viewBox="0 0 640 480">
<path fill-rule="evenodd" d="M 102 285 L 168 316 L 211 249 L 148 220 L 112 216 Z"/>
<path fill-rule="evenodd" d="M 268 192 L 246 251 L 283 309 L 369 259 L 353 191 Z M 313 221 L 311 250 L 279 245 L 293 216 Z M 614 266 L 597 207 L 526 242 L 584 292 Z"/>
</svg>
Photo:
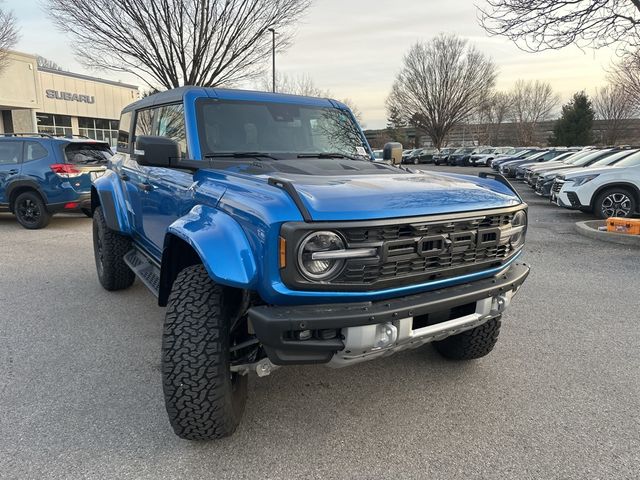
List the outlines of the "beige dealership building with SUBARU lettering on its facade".
<svg viewBox="0 0 640 480">
<path fill-rule="evenodd" d="M 138 87 L 38 68 L 35 56 L 9 54 L 0 71 L 0 133 L 83 135 L 115 146 L 120 111 Z"/>
</svg>

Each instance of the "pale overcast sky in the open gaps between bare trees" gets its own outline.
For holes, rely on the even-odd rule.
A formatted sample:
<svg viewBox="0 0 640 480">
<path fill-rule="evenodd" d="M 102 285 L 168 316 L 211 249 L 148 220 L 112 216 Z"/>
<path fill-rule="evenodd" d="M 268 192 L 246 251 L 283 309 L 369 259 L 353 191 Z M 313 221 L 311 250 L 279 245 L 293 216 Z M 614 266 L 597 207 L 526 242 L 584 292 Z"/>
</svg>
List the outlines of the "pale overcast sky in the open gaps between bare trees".
<svg viewBox="0 0 640 480">
<path fill-rule="evenodd" d="M 482 4 L 483 0 L 476 0 Z M 21 27 L 17 50 L 38 53 L 67 70 L 112 80 L 133 81 L 111 72 L 84 69 L 74 58 L 71 41 L 58 32 L 37 0 L 6 0 Z M 573 92 L 593 93 L 606 83 L 612 52 L 570 47 L 538 54 L 489 37 L 478 26 L 471 0 L 316 0 L 298 26 L 294 45 L 279 55 L 278 68 L 308 74 L 336 98 L 351 98 L 363 112 L 366 128 L 385 125 L 384 101 L 402 56 L 418 40 L 440 32 L 461 35 L 491 56 L 499 68 L 498 88 L 519 79 L 549 81 L 566 101 Z"/>
</svg>

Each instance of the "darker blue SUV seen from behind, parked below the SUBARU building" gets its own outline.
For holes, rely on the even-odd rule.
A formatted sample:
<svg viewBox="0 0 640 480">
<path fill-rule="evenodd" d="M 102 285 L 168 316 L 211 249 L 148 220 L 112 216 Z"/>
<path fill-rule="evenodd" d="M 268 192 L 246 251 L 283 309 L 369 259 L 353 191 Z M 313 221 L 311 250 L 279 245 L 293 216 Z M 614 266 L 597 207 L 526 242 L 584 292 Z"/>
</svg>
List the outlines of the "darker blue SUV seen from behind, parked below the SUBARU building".
<svg viewBox="0 0 640 480">
<path fill-rule="evenodd" d="M 0 134 L 0 212 L 29 229 L 58 212 L 91 215 L 91 180 L 102 175 L 111 149 L 104 142 L 46 134 Z"/>
</svg>

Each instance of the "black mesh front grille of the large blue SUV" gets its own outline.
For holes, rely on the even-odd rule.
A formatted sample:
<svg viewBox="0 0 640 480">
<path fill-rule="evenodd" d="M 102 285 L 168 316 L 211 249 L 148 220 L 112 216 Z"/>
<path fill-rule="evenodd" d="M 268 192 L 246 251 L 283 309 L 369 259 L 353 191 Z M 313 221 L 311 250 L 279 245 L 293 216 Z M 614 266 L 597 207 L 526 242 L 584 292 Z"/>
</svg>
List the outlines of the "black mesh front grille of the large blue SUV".
<svg viewBox="0 0 640 480">
<path fill-rule="evenodd" d="M 494 212 L 437 222 L 424 217 L 421 219 L 424 221 L 409 219 L 404 223 L 386 222 L 383 225 L 375 222 L 354 222 L 352 227 L 326 225 L 342 235 L 347 248 L 375 247 L 377 255 L 348 259 L 337 277 L 322 284 L 304 279 L 293 269 L 285 269 L 283 279 L 287 285 L 296 288 L 366 291 L 495 268 L 516 251 L 502 234 L 510 228 L 515 209 Z M 302 235 L 304 233 L 292 232 L 294 238 Z M 290 245 L 294 248 L 295 240 Z M 292 255 L 294 252 L 295 249 Z"/>
</svg>

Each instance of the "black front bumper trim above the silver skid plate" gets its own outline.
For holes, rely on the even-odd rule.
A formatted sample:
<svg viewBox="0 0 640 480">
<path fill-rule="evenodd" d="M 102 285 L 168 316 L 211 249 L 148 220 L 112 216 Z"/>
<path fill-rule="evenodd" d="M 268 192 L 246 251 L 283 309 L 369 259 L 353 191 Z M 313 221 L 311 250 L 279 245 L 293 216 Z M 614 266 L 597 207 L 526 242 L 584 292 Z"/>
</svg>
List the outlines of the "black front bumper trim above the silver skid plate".
<svg viewBox="0 0 640 480">
<path fill-rule="evenodd" d="M 515 264 L 495 277 L 400 298 L 302 306 L 265 305 L 251 308 L 248 315 L 273 363 L 326 363 L 343 348 L 341 340 L 289 340 L 285 334 L 371 325 L 439 312 L 513 290 L 522 285 L 528 275 L 527 265 Z"/>
</svg>

